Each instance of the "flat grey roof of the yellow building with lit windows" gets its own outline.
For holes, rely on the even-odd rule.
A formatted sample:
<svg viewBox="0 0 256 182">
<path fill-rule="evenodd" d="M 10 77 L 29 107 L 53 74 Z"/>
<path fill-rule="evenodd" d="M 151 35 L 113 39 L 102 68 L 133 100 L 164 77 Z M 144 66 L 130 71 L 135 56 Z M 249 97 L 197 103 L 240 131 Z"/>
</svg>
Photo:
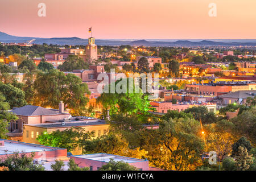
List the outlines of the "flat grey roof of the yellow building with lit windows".
<svg viewBox="0 0 256 182">
<path fill-rule="evenodd" d="M 57 128 L 57 127 L 81 127 L 81 126 L 93 126 L 93 125 L 108 125 L 104 120 L 92 120 L 92 121 L 65 121 L 64 125 L 62 122 L 54 123 L 40 123 L 30 124 L 27 126 L 43 127 L 43 128 Z"/>
</svg>

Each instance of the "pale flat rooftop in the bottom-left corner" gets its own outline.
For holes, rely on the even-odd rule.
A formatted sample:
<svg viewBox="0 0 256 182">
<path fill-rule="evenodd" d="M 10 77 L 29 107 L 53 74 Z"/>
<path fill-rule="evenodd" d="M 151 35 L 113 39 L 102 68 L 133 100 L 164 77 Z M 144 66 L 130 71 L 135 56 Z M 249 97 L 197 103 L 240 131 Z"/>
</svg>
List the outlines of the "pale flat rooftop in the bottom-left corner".
<svg viewBox="0 0 256 182">
<path fill-rule="evenodd" d="M 5 140 L 4 146 L 0 146 L 0 155 L 13 154 L 14 152 L 43 152 L 52 150 L 63 150 L 63 148 L 42 146 L 40 144 L 16 142 L 13 140 Z"/>
</svg>

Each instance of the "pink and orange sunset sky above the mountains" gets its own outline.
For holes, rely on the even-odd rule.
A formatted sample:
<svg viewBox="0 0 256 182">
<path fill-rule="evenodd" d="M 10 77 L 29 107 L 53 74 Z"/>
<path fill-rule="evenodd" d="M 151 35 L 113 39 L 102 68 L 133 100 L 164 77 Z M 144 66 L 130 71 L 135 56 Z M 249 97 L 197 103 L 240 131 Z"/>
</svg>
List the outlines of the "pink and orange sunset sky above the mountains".
<svg viewBox="0 0 256 182">
<path fill-rule="evenodd" d="M 45 3 L 46 16 L 38 16 Z M 209 16 L 210 3 L 217 16 Z M 0 31 L 96 39 L 256 39 L 255 0 L 1 0 Z"/>
</svg>

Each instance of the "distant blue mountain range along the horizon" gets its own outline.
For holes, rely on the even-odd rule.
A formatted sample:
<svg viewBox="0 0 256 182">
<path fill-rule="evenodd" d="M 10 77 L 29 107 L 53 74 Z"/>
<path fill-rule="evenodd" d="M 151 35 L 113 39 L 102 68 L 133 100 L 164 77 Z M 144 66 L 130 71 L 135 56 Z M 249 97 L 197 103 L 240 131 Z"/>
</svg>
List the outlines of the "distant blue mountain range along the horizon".
<svg viewBox="0 0 256 182">
<path fill-rule="evenodd" d="M 73 38 L 34 38 L 34 37 L 21 37 L 21 36 L 13 36 L 6 34 L 4 32 L 0 32 L 0 42 L 4 43 L 21 43 L 27 42 L 27 40 L 36 39 L 35 44 L 58 44 L 58 45 L 86 45 L 88 43 L 88 39 L 81 39 L 77 37 Z M 195 40 L 102 40 L 96 39 L 96 44 L 99 46 L 121 46 L 121 45 L 130 45 L 130 46 L 256 46 L 256 40 L 200 40 L 195 42 Z"/>
</svg>

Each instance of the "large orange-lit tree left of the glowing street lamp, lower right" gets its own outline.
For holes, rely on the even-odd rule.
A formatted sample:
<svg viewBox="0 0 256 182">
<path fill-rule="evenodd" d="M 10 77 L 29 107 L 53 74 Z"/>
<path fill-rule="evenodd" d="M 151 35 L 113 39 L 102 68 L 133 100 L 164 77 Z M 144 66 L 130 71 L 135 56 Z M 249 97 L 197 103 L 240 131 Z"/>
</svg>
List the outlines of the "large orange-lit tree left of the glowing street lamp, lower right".
<svg viewBox="0 0 256 182">
<path fill-rule="evenodd" d="M 167 161 L 171 166 L 167 169 L 188 170 L 199 165 L 204 148 L 203 139 L 198 136 L 200 130 L 200 123 L 195 119 L 169 119 L 160 123 L 160 141 L 170 153 Z"/>
</svg>

